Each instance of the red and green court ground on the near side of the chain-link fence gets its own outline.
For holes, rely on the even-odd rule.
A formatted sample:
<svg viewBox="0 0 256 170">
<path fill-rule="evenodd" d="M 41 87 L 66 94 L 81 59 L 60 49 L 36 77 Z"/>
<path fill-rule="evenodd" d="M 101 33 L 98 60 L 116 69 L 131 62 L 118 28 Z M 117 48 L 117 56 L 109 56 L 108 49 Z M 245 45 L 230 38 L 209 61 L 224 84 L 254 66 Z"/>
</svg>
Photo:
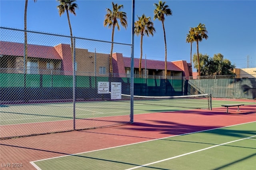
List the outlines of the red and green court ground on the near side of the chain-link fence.
<svg viewBox="0 0 256 170">
<path fill-rule="evenodd" d="M 20 169 L 26 170 L 247 170 L 255 167 L 254 100 L 213 99 L 212 110 L 193 108 L 195 104 L 191 104 L 192 108 L 188 104 L 182 108 L 174 103 L 160 99 L 136 100 L 136 121 L 125 126 L 1 140 L 2 165 L 20 163 Z M 234 107 L 226 113 L 226 108 L 221 107 L 236 103 L 245 104 L 240 112 Z M 202 102 L 196 105 L 204 106 Z M 1 169 L 8 169 L 3 166 Z"/>
</svg>

